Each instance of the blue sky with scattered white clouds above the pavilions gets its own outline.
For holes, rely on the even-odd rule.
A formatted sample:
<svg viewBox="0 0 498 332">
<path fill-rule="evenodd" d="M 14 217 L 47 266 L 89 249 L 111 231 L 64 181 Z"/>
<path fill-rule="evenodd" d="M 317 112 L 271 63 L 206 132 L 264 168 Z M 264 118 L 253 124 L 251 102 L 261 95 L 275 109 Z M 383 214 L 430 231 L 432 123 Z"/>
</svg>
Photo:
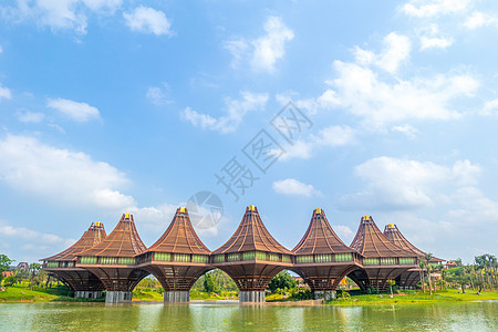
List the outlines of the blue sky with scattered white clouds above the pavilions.
<svg viewBox="0 0 498 332">
<path fill-rule="evenodd" d="M 151 246 L 201 190 L 224 203 L 198 229 L 211 250 L 253 204 L 289 249 L 321 207 L 346 243 L 371 215 L 438 257 L 498 252 L 496 1 L 33 0 L 0 14 L 0 251 L 18 261 L 125 211 Z M 309 122 L 287 141 L 270 122 L 289 102 Z M 264 172 L 249 158 L 261 131 Z M 234 160 L 238 200 L 215 176 Z"/>
</svg>

